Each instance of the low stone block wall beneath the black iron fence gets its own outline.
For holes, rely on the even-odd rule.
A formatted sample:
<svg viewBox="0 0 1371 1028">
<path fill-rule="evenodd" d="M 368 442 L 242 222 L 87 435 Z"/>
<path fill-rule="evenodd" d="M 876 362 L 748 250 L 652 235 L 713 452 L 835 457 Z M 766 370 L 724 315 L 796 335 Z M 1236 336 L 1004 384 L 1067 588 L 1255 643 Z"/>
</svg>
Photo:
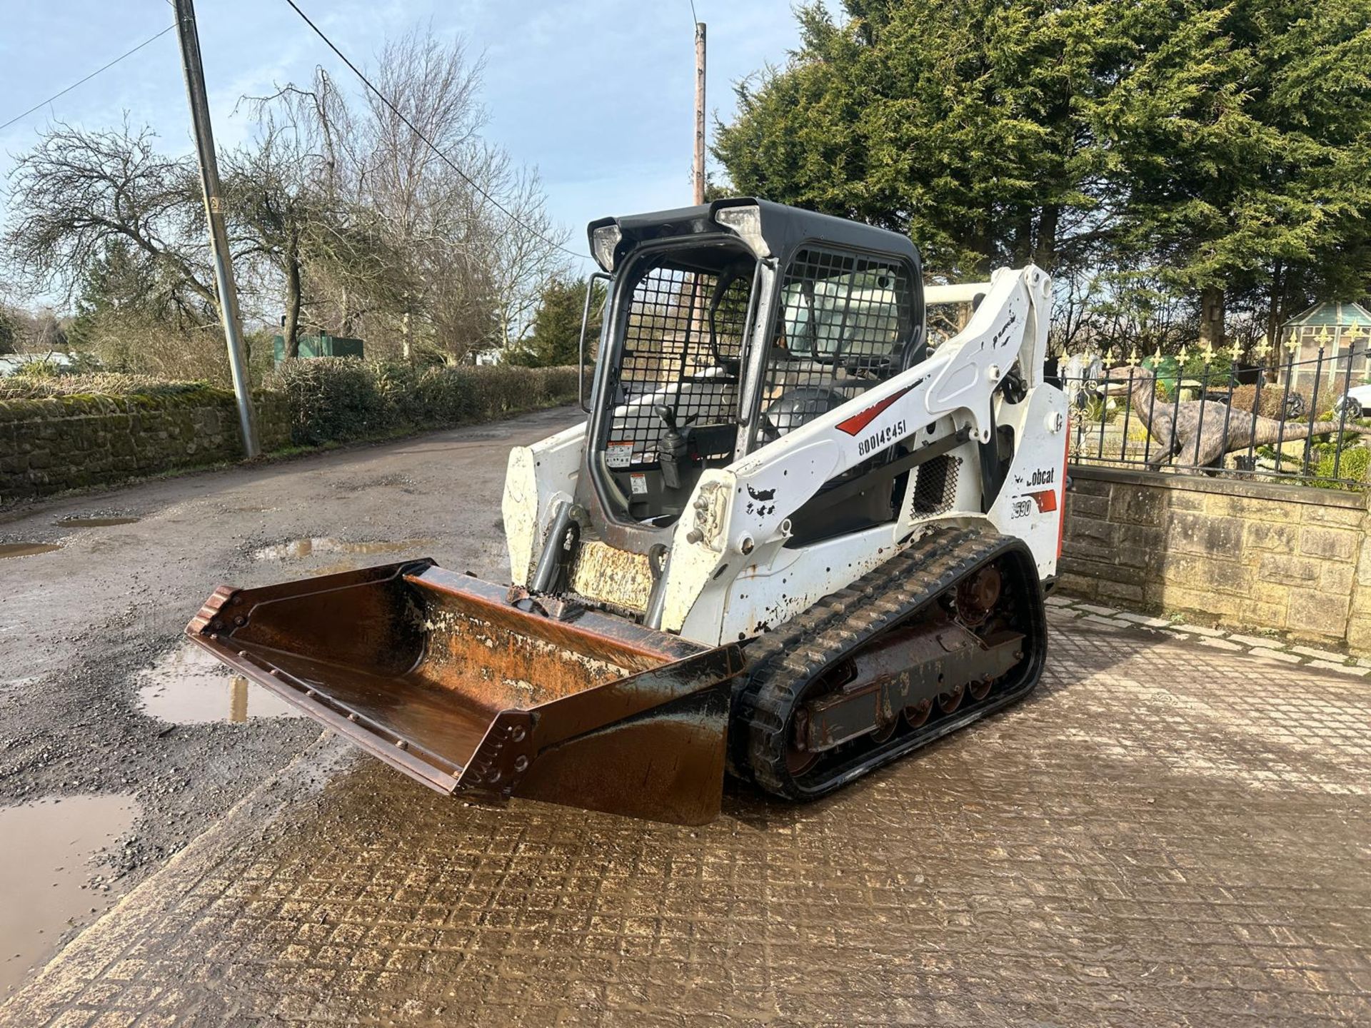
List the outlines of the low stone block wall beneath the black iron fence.
<svg viewBox="0 0 1371 1028">
<path fill-rule="evenodd" d="M 1357 492 L 1072 466 L 1064 592 L 1371 652 Z"/>
</svg>

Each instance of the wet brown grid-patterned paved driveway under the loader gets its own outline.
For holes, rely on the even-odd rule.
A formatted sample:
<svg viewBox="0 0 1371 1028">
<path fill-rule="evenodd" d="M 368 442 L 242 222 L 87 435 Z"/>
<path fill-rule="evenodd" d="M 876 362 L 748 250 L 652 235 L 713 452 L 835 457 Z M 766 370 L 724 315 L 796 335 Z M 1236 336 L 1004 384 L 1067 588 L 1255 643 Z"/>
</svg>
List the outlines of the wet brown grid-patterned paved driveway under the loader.
<svg viewBox="0 0 1371 1028">
<path fill-rule="evenodd" d="M 1367 1024 L 1368 788 L 1364 683 L 1054 615 L 1027 702 L 703 828 L 322 742 L 0 1020 Z"/>
</svg>

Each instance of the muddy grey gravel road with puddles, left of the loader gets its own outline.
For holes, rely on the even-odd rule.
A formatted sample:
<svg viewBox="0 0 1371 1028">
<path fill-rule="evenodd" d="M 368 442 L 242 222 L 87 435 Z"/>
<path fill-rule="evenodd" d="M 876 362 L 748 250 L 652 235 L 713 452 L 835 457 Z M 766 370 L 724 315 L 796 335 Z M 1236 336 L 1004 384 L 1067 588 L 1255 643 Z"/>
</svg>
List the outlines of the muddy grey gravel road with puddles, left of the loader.
<svg viewBox="0 0 1371 1028">
<path fill-rule="evenodd" d="M 576 419 L 540 411 L 0 514 L 0 873 L 37 896 L 0 922 L 0 992 L 318 737 L 186 647 L 215 585 L 411 556 L 507 581 L 506 454 Z"/>
</svg>

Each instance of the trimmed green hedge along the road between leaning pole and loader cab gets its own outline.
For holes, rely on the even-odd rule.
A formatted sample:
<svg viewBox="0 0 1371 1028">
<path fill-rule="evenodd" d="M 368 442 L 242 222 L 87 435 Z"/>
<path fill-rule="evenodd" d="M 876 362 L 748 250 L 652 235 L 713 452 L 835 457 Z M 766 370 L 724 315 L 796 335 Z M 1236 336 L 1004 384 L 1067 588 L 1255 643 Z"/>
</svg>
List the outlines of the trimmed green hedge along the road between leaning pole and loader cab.
<svg viewBox="0 0 1371 1028">
<path fill-rule="evenodd" d="M 574 367 L 411 367 L 358 358 L 285 360 L 266 378 L 285 396 L 291 441 L 318 445 L 492 421 L 576 399 Z"/>
</svg>

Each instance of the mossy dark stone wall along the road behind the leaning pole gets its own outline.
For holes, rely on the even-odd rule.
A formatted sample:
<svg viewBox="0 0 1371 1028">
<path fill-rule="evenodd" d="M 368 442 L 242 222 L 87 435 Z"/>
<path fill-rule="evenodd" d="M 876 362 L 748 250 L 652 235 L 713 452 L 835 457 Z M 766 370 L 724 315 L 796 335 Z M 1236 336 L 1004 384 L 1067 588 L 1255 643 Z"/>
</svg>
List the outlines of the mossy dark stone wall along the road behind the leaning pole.
<svg viewBox="0 0 1371 1028">
<path fill-rule="evenodd" d="M 262 450 L 289 443 L 289 413 L 258 393 Z M 0 506 L 63 489 L 239 461 L 233 393 L 55 396 L 0 402 Z"/>
</svg>

